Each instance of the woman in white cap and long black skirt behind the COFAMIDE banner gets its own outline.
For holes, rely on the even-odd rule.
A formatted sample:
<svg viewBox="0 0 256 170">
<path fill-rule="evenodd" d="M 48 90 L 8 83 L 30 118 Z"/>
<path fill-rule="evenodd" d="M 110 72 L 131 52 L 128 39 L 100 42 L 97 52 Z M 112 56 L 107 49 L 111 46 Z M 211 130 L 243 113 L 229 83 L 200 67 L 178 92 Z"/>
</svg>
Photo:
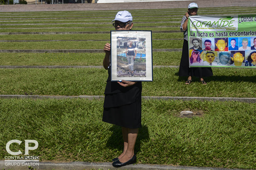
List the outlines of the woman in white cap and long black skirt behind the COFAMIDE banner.
<svg viewBox="0 0 256 170">
<path fill-rule="evenodd" d="M 190 3 L 188 5 L 188 10 L 181 20 L 180 30 L 184 34 L 184 42 L 182 48 L 182 56 L 179 64 L 179 76 L 188 76 L 185 84 L 190 84 L 192 82 L 192 76 L 199 77 L 202 84 L 206 84 L 203 77 L 212 76 L 212 69 L 210 67 L 191 67 L 189 68 L 188 59 L 188 37 L 187 37 L 187 22 L 189 16 L 197 15 L 198 6 L 196 3 Z"/>
</svg>

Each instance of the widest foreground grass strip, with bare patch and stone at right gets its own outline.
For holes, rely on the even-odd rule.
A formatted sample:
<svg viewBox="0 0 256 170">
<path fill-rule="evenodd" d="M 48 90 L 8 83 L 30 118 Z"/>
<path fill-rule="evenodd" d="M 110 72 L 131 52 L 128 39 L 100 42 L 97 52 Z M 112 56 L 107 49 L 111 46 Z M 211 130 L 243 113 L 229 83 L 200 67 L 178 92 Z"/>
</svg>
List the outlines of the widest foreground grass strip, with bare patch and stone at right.
<svg viewBox="0 0 256 170">
<path fill-rule="evenodd" d="M 255 169 L 254 105 L 143 100 L 137 163 Z M 122 152 L 121 128 L 102 122 L 103 100 L 0 99 L 0 107 L 1 148 L 15 136 L 37 140 L 29 154 L 40 161 L 111 162 Z M 201 115 L 178 117 L 183 110 Z M 11 145 L 18 149 L 24 152 L 24 145 Z M 0 159 L 5 156 L 1 149 Z"/>
</svg>

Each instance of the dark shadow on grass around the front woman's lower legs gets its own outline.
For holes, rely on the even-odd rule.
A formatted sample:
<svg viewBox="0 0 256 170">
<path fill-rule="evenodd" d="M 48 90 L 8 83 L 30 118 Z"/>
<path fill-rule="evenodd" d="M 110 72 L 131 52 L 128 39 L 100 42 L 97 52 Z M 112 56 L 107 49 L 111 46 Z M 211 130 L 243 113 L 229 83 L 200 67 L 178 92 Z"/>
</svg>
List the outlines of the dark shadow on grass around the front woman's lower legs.
<svg viewBox="0 0 256 170">
<path fill-rule="evenodd" d="M 120 126 L 113 125 L 109 129 L 112 131 L 112 135 L 108 139 L 106 146 L 108 148 L 112 149 L 118 149 L 120 151 L 123 151 L 123 136 L 122 136 L 122 129 Z M 146 125 L 142 125 L 141 128 L 139 128 L 139 134 L 135 143 L 135 154 L 138 152 L 141 152 L 141 141 L 145 141 L 149 139 L 148 134 L 148 127 Z"/>
</svg>

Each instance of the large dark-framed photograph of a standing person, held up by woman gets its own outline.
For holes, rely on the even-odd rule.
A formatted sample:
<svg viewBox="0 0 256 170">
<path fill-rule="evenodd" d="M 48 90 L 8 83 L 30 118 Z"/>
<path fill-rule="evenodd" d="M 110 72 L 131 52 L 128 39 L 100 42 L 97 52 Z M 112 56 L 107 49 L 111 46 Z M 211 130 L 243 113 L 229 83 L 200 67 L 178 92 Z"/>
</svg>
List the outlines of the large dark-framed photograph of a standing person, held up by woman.
<svg viewBox="0 0 256 170">
<path fill-rule="evenodd" d="M 110 31 L 111 81 L 153 81 L 152 31 Z"/>
</svg>

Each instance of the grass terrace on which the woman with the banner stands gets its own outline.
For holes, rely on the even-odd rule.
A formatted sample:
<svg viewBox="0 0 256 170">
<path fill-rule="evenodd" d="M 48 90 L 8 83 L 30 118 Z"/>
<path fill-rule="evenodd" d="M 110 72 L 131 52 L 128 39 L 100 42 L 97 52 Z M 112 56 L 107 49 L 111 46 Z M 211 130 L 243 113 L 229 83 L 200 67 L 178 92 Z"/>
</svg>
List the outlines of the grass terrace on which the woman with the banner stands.
<svg viewBox="0 0 256 170">
<path fill-rule="evenodd" d="M 207 85 L 190 85 L 177 68 L 154 68 L 154 81 L 143 82 L 143 96 L 256 97 L 255 69 L 213 69 Z M 105 69 L 0 69 L 0 94 L 103 95 Z"/>
</svg>

